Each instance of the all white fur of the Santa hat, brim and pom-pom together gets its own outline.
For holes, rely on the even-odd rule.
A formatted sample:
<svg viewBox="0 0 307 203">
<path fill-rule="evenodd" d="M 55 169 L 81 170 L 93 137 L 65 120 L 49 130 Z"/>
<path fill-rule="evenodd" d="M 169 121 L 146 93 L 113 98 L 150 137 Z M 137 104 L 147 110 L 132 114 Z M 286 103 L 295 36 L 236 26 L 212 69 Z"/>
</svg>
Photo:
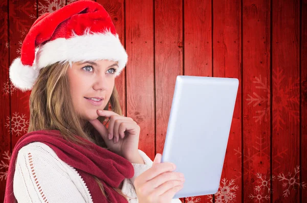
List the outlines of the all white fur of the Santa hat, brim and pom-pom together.
<svg viewBox="0 0 307 203">
<path fill-rule="evenodd" d="M 128 56 L 118 34 L 109 31 L 90 33 L 87 29 L 83 35 L 73 32 L 71 38 L 57 38 L 41 45 L 35 50 L 32 66 L 24 65 L 16 58 L 10 66 L 10 79 L 15 87 L 22 91 L 32 89 L 39 70 L 56 62 L 82 62 L 95 60 L 112 60 L 118 62 L 117 77 L 126 66 Z"/>
</svg>

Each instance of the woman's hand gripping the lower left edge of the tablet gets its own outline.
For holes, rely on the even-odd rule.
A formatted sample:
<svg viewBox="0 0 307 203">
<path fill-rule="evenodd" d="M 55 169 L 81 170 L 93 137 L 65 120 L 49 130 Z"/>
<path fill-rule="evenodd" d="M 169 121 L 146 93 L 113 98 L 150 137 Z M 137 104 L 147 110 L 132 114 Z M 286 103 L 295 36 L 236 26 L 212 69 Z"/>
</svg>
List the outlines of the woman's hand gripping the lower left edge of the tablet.
<svg viewBox="0 0 307 203">
<path fill-rule="evenodd" d="M 171 202 L 173 196 L 183 188 L 182 173 L 172 172 L 172 163 L 160 163 L 161 154 L 157 154 L 152 167 L 139 175 L 134 182 L 139 203 Z M 182 174 L 183 175 L 183 174 Z"/>
</svg>

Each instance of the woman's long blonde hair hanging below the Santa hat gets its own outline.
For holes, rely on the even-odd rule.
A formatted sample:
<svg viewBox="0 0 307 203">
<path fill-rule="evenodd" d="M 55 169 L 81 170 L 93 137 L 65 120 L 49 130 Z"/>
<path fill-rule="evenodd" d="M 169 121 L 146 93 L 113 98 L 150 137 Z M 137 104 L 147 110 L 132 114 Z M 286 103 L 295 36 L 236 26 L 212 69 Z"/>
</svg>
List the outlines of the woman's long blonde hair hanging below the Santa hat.
<svg viewBox="0 0 307 203">
<path fill-rule="evenodd" d="M 85 145 L 77 137 L 89 140 L 98 146 L 106 148 L 105 142 L 98 131 L 87 121 L 82 127 L 81 119 L 72 105 L 67 70 L 69 62 L 57 62 L 41 69 L 33 85 L 30 95 L 30 123 L 28 132 L 36 130 L 59 130 L 62 137 L 70 142 Z M 111 110 L 122 115 L 117 89 L 114 86 L 111 98 L 105 110 Z M 106 118 L 98 117 L 101 123 Z M 104 125 L 107 124 L 107 121 Z M 94 176 L 101 192 L 106 196 L 101 181 Z M 119 188 L 113 188 L 120 195 L 127 198 Z"/>
</svg>

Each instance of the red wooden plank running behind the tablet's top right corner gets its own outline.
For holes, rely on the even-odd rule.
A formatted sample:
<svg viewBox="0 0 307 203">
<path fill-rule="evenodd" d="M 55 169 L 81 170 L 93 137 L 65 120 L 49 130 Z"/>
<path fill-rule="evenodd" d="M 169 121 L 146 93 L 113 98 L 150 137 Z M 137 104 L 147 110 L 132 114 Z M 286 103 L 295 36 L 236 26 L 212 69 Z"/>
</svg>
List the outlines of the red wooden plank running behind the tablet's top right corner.
<svg viewBox="0 0 307 203">
<path fill-rule="evenodd" d="M 241 1 L 213 3 L 213 76 L 239 79 L 220 188 L 215 199 L 242 202 Z M 239 151 L 239 153 L 238 153 Z M 228 187 L 229 191 L 224 191 Z M 216 201 L 216 200 L 215 200 Z"/>
</svg>

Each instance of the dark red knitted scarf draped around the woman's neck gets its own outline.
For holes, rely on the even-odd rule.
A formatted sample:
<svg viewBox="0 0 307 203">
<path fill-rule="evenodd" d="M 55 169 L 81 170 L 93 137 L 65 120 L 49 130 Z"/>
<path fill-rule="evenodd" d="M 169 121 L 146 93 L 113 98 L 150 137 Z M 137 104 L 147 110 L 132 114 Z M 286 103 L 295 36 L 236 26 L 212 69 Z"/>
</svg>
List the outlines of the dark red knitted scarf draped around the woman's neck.
<svg viewBox="0 0 307 203">
<path fill-rule="evenodd" d="M 87 188 L 89 188 L 94 203 L 127 202 L 112 187 L 119 187 L 125 178 L 133 177 L 134 168 L 132 164 L 116 153 L 82 138 L 80 139 L 85 143 L 89 143 L 89 147 L 81 147 L 80 145 L 64 140 L 59 130 L 33 131 L 20 138 L 14 147 L 10 160 L 4 203 L 16 202 L 13 194 L 13 177 L 17 154 L 21 147 L 31 142 L 41 142 L 48 145 L 63 162 L 74 167 L 83 178 Z M 98 177 L 102 182 L 107 198 L 102 194 L 92 175 Z"/>
</svg>

